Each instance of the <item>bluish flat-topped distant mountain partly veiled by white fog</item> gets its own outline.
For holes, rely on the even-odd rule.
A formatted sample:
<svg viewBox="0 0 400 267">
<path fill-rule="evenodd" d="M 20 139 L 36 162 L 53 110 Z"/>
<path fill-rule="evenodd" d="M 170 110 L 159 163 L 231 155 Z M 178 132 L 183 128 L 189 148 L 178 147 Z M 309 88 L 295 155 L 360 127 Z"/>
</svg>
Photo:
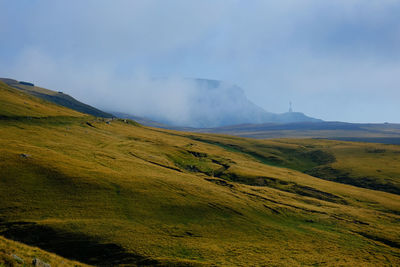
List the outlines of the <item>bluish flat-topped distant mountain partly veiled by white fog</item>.
<svg viewBox="0 0 400 267">
<path fill-rule="evenodd" d="M 243 123 L 318 121 L 299 112 L 274 114 L 251 102 L 242 88 L 207 79 L 140 79 L 132 99 L 109 95 L 102 104 L 114 113 L 148 118 L 172 126 L 210 128 Z M 118 105 L 114 105 L 118 103 Z M 122 115 L 122 114 L 121 114 Z M 123 115 L 122 115 L 123 116 Z"/>
</svg>

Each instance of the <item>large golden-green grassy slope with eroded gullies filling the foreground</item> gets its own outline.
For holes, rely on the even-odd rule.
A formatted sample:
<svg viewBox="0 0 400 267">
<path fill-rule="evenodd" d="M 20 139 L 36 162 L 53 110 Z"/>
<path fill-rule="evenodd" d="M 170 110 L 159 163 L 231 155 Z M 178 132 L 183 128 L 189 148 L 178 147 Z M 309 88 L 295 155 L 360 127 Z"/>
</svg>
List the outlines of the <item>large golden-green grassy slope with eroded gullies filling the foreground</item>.
<svg viewBox="0 0 400 267">
<path fill-rule="evenodd" d="M 396 194 L 271 166 L 228 137 L 21 117 L 30 97 L 0 120 L 7 238 L 95 265 L 400 264 Z"/>
</svg>

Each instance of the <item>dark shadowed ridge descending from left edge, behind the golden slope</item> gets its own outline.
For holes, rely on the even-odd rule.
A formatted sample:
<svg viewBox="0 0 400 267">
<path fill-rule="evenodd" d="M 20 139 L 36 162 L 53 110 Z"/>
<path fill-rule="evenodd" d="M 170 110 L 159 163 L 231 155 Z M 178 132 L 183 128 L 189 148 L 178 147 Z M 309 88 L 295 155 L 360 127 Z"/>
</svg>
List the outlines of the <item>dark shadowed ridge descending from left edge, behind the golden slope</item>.
<svg viewBox="0 0 400 267">
<path fill-rule="evenodd" d="M 84 104 L 75 98 L 62 92 L 55 92 L 45 88 L 37 87 L 33 83 L 17 81 L 13 79 L 0 78 L 0 81 L 7 85 L 22 90 L 30 95 L 45 99 L 60 106 L 64 106 L 82 113 L 90 114 L 96 117 L 111 118 L 112 114 L 101 111 L 97 108 Z"/>
</svg>

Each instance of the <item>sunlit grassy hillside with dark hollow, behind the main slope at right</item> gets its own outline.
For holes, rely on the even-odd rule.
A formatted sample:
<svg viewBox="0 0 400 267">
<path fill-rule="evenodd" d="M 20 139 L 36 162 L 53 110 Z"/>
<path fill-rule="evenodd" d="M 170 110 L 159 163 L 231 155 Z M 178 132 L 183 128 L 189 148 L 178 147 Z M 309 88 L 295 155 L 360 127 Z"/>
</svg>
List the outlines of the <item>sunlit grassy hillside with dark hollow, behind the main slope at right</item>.
<svg viewBox="0 0 400 267">
<path fill-rule="evenodd" d="M 320 139 L 255 140 L 182 134 L 270 166 L 400 195 L 400 146 Z"/>
</svg>

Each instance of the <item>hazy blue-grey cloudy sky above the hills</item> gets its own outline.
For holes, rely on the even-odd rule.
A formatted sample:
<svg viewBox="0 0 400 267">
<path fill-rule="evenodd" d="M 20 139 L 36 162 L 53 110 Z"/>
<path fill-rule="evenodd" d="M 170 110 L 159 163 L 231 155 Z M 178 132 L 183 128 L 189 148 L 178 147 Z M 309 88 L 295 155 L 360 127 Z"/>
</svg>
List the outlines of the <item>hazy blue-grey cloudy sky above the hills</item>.
<svg viewBox="0 0 400 267">
<path fill-rule="evenodd" d="M 269 112 L 291 101 L 323 120 L 400 123 L 400 1 L 0 0 L 0 11 L 0 77 L 100 108 L 184 112 L 184 87 L 149 81 L 205 78 Z"/>
</svg>

